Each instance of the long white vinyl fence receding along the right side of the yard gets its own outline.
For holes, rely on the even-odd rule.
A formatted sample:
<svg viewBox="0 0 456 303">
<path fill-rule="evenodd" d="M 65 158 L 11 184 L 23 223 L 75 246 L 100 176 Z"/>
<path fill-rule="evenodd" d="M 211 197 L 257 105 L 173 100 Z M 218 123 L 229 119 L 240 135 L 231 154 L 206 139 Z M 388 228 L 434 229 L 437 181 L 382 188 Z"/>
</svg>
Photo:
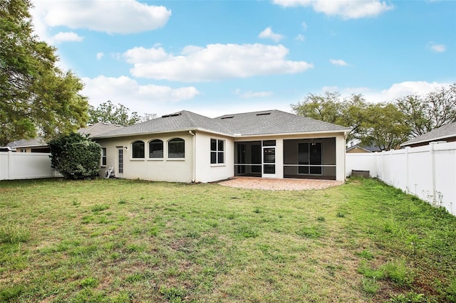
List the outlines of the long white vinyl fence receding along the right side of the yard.
<svg viewBox="0 0 456 303">
<path fill-rule="evenodd" d="M 456 142 L 346 154 L 346 175 L 352 171 L 369 171 L 371 177 L 456 215 Z"/>
</svg>

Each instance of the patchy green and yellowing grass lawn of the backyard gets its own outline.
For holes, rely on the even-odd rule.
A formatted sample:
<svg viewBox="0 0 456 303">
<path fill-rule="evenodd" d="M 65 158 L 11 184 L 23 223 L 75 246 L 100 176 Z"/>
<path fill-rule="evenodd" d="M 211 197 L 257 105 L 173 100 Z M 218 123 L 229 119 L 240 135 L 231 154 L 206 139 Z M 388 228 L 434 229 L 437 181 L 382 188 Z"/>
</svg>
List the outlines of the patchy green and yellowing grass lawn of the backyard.
<svg viewBox="0 0 456 303">
<path fill-rule="evenodd" d="M 0 181 L 0 302 L 456 302 L 456 218 L 318 191 Z"/>
</svg>

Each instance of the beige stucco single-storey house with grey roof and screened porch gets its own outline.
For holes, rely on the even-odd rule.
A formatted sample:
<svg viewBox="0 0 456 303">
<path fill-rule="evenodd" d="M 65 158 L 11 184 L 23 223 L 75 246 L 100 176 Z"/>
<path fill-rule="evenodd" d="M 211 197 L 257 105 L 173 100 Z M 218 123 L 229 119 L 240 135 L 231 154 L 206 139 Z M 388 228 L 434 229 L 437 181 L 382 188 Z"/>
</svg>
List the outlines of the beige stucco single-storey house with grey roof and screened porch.
<svg viewBox="0 0 456 303">
<path fill-rule="evenodd" d="M 204 117 L 181 111 L 94 136 L 101 175 L 211 182 L 233 176 L 345 179 L 351 129 L 279 110 Z"/>
</svg>

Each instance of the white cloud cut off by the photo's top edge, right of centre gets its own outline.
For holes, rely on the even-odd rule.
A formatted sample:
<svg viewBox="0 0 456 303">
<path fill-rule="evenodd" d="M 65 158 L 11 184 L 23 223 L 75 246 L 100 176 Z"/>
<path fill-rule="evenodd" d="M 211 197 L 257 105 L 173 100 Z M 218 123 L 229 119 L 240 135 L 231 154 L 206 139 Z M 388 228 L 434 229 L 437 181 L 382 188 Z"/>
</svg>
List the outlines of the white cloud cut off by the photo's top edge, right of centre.
<svg viewBox="0 0 456 303">
<path fill-rule="evenodd" d="M 284 7 L 311 6 L 319 13 L 340 16 L 344 19 L 378 16 L 393 9 L 392 5 L 379 0 L 273 0 L 273 2 Z"/>
</svg>

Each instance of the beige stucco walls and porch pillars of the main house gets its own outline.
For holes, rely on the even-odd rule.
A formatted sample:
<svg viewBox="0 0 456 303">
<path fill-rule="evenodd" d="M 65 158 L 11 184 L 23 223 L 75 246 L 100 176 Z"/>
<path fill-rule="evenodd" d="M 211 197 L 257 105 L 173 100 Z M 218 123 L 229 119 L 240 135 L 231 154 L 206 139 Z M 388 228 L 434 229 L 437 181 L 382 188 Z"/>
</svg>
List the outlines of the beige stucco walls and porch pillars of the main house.
<svg viewBox="0 0 456 303">
<path fill-rule="evenodd" d="M 105 170 L 113 166 L 118 174 L 118 147 L 123 148 L 124 172 L 120 177 L 125 179 L 144 179 L 151 181 L 172 182 L 210 182 L 228 179 L 234 176 L 234 142 L 276 140 L 276 174 L 275 178 L 284 178 L 284 139 L 323 139 L 336 137 L 336 180 L 345 180 L 345 151 L 346 141 L 343 134 L 312 134 L 285 135 L 266 137 L 225 137 L 218 134 L 195 131 L 195 137 L 189 132 L 174 132 L 165 134 L 141 135 L 122 138 L 98 139 L 97 142 L 106 148 L 106 166 L 100 170 L 104 176 Z M 167 158 L 167 141 L 173 138 L 185 140 L 185 159 Z M 149 142 L 161 139 L 164 142 L 163 159 L 149 159 Z M 195 139 L 195 141 L 194 141 Z M 225 142 L 224 164 L 210 164 L 210 139 L 222 139 Z M 137 140 L 145 142 L 145 159 L 132 159 L 131 144 Z M 194 144 L 195 142 L 195 144 Z M 127 147 L 125 149 L 125 147 Z M 195 152 L 196 151 L 196 152 Z M 323 151 L 331 152 L 332 151 Z M 333 156 L 330 158 L 333 159 Z M 195 169 L 193 167 L 195 166 Z M 334 168 L 331 168 L 332 170 Z"/>
</svg>

